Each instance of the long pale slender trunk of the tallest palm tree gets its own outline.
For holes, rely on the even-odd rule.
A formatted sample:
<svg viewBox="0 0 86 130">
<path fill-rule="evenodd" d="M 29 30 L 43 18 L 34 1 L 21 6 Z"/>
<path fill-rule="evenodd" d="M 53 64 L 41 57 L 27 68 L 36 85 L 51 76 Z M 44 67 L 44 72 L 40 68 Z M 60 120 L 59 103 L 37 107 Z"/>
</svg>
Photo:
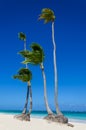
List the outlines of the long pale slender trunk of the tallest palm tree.
<svg viewBox="0 0 86 130">
<path fill-rule="evenodd" d="M 58 115 L 63 115 L 58 107 L 58 77 L 57 77 L 57 65 L 56 65 L 56 43 L 54 38 L 54 22 L 52 22 L 52 42 L 53 42 L 53 59 L 54 59 L 54 78 L 55 78 L 55 105 Z"/>
</svg>

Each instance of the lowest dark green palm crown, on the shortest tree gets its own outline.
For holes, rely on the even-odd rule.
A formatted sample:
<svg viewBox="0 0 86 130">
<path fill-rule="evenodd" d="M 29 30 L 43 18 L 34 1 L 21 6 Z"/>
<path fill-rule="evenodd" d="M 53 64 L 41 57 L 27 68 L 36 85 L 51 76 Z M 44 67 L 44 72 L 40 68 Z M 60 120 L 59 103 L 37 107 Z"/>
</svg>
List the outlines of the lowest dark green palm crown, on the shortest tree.
<svg viewBox="0 0 86 130">
<path fill-rule="evenodd" d="M 13 76 L 14 79 L 19 79 L 23 82 L 28 82 L 32 79 L 32 73 L 29 69 L 22 68 L 18 71 L 17 75 Z"/>
</svg>

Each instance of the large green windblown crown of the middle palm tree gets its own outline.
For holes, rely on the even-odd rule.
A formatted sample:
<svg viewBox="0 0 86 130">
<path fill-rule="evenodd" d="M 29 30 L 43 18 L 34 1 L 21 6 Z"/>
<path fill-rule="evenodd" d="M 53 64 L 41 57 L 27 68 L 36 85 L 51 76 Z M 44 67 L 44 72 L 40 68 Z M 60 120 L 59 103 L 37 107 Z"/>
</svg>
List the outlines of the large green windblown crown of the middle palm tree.
<svg viewBox="0 0 86 130">
<path fill-rule="evenodd" d="M 33 43 L 30 47 L 32 48 L 32 51 L 29 51 L 28 55 L 25 56 L 26 60 L 22 63 L 31 63 L 35 65 L 42 63 L 44 60 L 44 52 L 42 47 L 37 43 Z"/>
</svg>

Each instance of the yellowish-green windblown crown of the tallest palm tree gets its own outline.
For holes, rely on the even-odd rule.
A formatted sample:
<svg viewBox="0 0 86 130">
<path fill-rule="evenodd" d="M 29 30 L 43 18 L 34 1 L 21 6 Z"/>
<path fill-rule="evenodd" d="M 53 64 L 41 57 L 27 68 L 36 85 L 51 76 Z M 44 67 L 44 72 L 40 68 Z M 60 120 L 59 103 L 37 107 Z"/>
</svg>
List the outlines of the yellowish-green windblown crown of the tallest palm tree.
<svg viewBox="0 0 86 130">
<path fill-rule="evenodd" d="M 44 8 L 39 15 L 39 20 L 44 19 L 44 23 L 52 22 L 55 20 L 54 12 L 49 8 Z"/>
</svg>

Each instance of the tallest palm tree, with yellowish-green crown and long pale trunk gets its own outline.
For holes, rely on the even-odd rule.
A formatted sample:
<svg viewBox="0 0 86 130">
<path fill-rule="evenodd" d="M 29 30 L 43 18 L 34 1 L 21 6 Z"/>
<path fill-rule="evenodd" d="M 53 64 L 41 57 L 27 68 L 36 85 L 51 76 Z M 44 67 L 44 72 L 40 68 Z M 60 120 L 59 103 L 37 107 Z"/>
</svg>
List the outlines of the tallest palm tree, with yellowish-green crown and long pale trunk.
<svg viewBox="0 0 86 130">
<path fill-rule="evenodd" d="M 43 19 L 44 23 L 52 22 L 52 43 L 53 43 L 53 60 L 54 60 L 54 84 L 55 84 L 55 106 L 58 115 L 63 115 L 58 107 L 58 77 L 57 77 L 57 65 L 56 65 L 56 43 L 54 37 L 54 12 L 49 8 L 42 9 L 39 16 L 39 20 Z"/>
</svg>

